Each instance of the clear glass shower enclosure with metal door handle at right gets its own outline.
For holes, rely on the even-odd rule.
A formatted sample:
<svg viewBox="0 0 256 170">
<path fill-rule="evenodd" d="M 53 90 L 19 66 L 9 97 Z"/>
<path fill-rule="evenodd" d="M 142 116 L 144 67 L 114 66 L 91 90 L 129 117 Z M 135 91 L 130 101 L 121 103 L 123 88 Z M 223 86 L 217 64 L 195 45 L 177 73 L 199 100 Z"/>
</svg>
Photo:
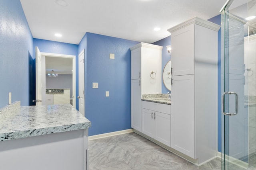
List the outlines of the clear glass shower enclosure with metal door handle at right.
<svg viewBox="0 0 256 170">
<path fill-rule="evenodd" d="M 228 0 L 222 17 L 222 169 L 256 169 L 256 0 Z"/>
</svg>

